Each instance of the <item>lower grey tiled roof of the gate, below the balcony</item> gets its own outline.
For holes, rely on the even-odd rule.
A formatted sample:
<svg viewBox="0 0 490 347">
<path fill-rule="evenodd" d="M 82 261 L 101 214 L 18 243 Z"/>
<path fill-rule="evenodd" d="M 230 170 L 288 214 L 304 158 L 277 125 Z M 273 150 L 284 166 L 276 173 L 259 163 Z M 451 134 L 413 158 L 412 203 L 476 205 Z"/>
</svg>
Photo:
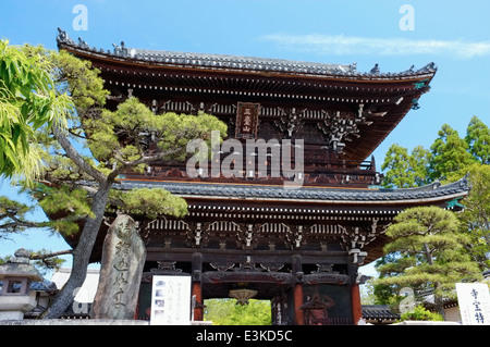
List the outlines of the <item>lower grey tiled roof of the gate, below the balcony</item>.
<svg viewBox="0 0 490 347">
<path fill-rule="evenodd" d="M 440 185 L 431 185 L 408 189 L 336 189 L 336 188 L 311 188 L 286 189 L 282 186 L 260 185 L 233 185 L 233 184 L 199 184 L 191 182 L 121 182 L 115 188 L 163 188 L 180 196 L 207 196 L 230 198 L 261 198 L 261 199 L 285 199 L 285 200 L 322 200 L 322 201 L 422 201 L 440 200 L 461 197 L 468 191 L 468 179 L 464 177 L 457 182 Z"/>
</svg>

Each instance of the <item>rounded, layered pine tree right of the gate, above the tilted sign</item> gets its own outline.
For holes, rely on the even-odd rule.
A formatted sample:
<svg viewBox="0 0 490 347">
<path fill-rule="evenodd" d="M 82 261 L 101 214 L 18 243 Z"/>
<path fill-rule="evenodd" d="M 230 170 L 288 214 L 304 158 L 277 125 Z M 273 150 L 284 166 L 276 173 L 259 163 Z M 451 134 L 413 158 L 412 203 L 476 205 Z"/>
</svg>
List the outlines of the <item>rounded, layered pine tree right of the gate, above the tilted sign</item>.
<svg viewBox="0 0 490 347">
<path fill-rule="evenodd" d="M 456 282 L 480 278 L 478 265 L 470 261 L 464 245 L 468 235 L 460 232 L 453 212 L 438 207 L 417 207 L 400 213 L 388 228 L 392 238 L 384 247 L 392 262 L 380 267 L 377 285 L 431 290 L 436 309 L 444 314 L 443 298 L 454 297 Z"/>
</svg>

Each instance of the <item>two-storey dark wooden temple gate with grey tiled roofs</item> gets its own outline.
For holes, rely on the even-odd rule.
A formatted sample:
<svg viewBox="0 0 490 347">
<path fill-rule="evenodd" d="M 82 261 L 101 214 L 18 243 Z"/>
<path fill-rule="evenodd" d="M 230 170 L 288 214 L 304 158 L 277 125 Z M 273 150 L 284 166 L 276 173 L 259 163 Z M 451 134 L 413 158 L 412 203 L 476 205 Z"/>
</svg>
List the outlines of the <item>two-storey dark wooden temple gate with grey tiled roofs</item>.
<svg viewBox="0 0 490 347">
<path fill-rule="evenodd" d="M 257 172 L 192 178 L 185 163 L 154 163 L 143 175 L 121 177 L 120 189 L 166 188 L 185 198 L 189 211 L 180 220 L 140 221 L 147 272 L 139 318 L 149 305 L 151 276 L 159 273 L 192 275 L 199 305 L 247 288 L 257 292 L 255 298 L 272 300 L 274 324 L 355 324 L 363 281 L 358 267 L 382 255 L 393 218 L 414 206 L 449 207 L 467 193 L 466 181 L 380 189 L 369 158 L 418 108 L 433 64 L 395 74 L 360 73 L 354 64 L 148 51 L 123 42 L 105 51 L 74 42 L 61 30 L 58 45 L 100 69 L 110 108 L 135 96 L 157 114 L 217 115 L 228 124 L 229 137 L 242 141 L 304 141 L 304 183 L 297 189 L 283 187 L 289 177 Z M 250 132 L 238 128 L 243 104 L 258 110 Z M 100 247 L 99 241 L 93 260 Z M 196 319 L 203 318 L 199 305 Z"/>
</svg>

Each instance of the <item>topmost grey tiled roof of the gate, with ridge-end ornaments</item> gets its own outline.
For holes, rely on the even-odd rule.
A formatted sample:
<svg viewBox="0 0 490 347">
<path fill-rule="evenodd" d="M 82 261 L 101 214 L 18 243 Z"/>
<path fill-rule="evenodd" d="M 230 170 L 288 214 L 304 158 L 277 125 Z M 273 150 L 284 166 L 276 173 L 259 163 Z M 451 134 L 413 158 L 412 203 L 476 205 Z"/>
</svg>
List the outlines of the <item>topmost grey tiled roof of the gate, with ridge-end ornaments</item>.
<svg viewBox="0 0 490 347">
<path fill-rule="evenodd" d="M 320 75 L 320 76 L 345 76 L 377 79 L 397 79 L 425 74 L 433 75 L 437 67 L 433 63 L 414 70 L 413 67 L 400 73 L 381 73 L 376 65 L 370 72 L 362 73 L 356 64 L 327 64 L 315 62 L 302 62 L 283 59 L 269 59 L 256 57 L 241 57 L 226 54 L 174 52 L 163 50 L 147 50 L 112 45 L 113 50 L 103 50 L 90 47 L 83 39 L 74 41 L 69 35 L 58 28 L 57 41 L 59 46 L 70 46 L 75 49 L 90 51 L 93 54 L 110 55 L 117 59 L 131 59 L 160 65 L 184 65 L 201 69 L 225 69 L 238 71 L 260 71 L 282 74 Z"/>
</svg>

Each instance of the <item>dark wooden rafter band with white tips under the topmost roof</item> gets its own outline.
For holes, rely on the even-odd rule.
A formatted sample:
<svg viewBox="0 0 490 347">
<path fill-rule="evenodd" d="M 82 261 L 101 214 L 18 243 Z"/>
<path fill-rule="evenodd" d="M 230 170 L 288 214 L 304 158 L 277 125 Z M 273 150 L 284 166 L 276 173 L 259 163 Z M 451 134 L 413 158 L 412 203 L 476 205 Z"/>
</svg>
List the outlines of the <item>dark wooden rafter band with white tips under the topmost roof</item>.
<svg viewBox="0 0 490 347">
<path fill-rule="evenodd" d="M 418 79 L 396 83 L 365 83 L 324 80 L 309 82 L 297 77 L 266 78 L 260 76 L 220 73 L 206 76 L 196 75 L 195 70 L 174 72 L 172 67 L 164 71 L 147 71 L 122 66 L 105 67 L 100 64 L 102 75 L 110 85 L 147 91 L 175 91 L 183 94 L 216 94 L 219 96 L 244 96 L 261 98 L 285 98 L 309 101 L 329 101 L 347 103 L 395 103 L 401 96 L 414 94 Z M 218 75 L 218 76 L 217 76 Z M 418 94 L 419 91 L 417 91 Z"/>
</svg>

